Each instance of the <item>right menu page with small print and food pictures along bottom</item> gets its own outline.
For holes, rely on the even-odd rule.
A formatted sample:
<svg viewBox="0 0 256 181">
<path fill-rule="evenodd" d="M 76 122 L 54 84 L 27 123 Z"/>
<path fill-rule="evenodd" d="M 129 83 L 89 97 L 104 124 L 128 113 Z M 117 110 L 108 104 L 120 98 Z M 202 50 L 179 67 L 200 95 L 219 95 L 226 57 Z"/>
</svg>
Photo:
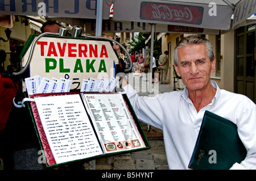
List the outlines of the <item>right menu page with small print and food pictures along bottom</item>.
<svg viewBox="0 0 256 181">
<path fill-rule="evenodd" d="M 120 93 L 82 93 L 106 153 L 145 147 Z"/>
</svg>

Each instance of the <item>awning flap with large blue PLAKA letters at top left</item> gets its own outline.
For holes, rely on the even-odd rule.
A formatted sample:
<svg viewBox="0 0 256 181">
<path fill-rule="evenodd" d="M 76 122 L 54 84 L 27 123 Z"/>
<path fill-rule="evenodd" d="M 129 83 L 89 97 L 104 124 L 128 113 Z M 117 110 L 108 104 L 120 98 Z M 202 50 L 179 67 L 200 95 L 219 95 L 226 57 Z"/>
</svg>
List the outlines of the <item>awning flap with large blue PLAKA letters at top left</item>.
<svg viewBox="0 0 256 181">
<path fill-rule="evenodd" d="M 0 14 L 96 19 L 97 0 L 0 0 Z M 109 19 L 104 1 L 102 19 Z"/>
</svg>

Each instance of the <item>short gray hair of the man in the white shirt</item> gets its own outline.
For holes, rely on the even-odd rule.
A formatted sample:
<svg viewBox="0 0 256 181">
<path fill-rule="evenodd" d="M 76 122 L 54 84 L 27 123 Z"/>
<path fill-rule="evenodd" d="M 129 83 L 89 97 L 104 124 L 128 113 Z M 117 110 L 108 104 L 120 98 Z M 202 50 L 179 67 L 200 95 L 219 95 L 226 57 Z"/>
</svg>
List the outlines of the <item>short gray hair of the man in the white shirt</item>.
<svg viewBox="0 0 256 181">
<path fill-rule="evenodd" d="M 191 45 L 191 44 L 204 44 L 207 49 L 207 55 L 210 61 L 214 60 L 215 57 L 212 49 L 212 44 L 210 43 L 210 41 L 202 36 L 191 35 L 191 36 L 184 37 L 182 40 L 180 40 L 180 42 L 174 48 L 174 65 L 175 66 L 177 66 L 179 62 L 179 58 L 177 56 L 177 49 L 186 47 L 187 45 Z"/>
</svg>

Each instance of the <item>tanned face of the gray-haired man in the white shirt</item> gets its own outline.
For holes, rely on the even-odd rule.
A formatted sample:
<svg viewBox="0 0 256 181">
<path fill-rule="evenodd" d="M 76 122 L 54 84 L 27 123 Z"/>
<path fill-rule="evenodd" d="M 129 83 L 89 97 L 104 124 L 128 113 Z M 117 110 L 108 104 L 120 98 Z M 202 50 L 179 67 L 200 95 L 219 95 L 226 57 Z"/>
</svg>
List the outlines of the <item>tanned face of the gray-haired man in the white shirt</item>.
<svg viewBox="0 0 256 181">
<path fill-rule="evenodd" d="M 215 59 L 210 62 L 204 44 L 192 44 L 177 50 L 177 74 L 189 91 L 203 90 L 210 85 L 210 72 L 214 72 Z"/>
</svg>

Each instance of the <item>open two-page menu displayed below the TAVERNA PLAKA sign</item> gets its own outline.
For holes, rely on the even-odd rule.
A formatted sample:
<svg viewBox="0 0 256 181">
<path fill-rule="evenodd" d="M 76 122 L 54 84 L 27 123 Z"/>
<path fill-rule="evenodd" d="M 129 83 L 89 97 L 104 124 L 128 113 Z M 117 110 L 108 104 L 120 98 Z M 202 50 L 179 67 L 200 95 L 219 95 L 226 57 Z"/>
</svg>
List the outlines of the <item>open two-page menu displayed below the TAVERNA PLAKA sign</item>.
<svg viewBox="0 0 256 181">
<path fill-rule="evenodd" d="M 129 100 L 121 93 L 30 97 L 34 98 L 31 110 L 47 166 L 149 147 Z"/>
</svg>

